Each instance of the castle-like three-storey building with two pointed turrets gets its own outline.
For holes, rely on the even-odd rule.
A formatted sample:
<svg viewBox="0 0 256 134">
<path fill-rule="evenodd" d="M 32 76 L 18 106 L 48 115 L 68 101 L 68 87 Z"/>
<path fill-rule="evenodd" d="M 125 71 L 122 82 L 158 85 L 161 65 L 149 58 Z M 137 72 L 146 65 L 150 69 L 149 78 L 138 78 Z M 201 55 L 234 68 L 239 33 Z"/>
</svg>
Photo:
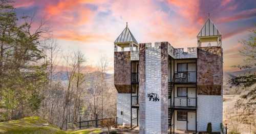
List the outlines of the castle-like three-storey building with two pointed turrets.
<svg viewBox="0 0 256 134">
<path fill-rule="evenodd" d="M 221 131 L 223 50 L 221 33 L 210 18 L 197 47 L 168 42 L 138 43 L 130 29 L 114 42 L 114 83 L 120 125 L 140 133 Z M 196 46 L 196 45 L 195 45 Z"/>
</svg>

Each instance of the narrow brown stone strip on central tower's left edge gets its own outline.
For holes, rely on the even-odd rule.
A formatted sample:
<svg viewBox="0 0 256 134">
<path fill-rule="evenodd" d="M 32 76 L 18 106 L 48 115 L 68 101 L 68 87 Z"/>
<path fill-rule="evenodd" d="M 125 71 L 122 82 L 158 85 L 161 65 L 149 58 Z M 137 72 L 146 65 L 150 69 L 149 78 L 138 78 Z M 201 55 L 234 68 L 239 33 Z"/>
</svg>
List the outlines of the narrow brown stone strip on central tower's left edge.
<svg viewBox="0 0 256 134">
<path fill-rule="evenodd" d="M 145 43 L 140 44 L 139 50 L 139 126 L 140 133 L 144 134 L 146 132 L 145 129 Z"/>
</svg>

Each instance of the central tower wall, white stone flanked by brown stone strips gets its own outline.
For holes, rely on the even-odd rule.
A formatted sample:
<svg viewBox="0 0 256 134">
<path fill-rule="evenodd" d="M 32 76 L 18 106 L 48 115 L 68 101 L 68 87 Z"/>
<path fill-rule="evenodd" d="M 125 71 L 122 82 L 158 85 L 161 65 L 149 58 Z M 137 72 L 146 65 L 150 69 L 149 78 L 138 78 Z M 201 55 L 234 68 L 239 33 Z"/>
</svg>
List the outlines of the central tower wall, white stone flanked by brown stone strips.
<svg viewBox="0 0 256 134">
<path fill-rule="evenodd" d="M 140 46 L 140 133 L 167 133 L 168 129 L 168 42 Z M 147 94 L 157 94 L 159 101 Z"/>
</svg>

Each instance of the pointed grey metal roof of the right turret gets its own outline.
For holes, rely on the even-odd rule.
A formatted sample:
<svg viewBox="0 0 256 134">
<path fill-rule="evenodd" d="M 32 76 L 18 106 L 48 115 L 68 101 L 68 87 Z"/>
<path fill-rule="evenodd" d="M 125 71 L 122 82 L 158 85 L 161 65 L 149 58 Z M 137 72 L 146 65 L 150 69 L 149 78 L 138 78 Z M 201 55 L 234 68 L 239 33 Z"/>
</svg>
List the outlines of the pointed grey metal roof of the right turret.
<svg viewBox="0 0 256 134">
<path fill-rule="evenodd" d="M 220 31 L 217 29 L 210 18 L 207 19 L 206 23 L 197 35 L 197 37 L 204 36 L 221 36 Z"/>
</svg>

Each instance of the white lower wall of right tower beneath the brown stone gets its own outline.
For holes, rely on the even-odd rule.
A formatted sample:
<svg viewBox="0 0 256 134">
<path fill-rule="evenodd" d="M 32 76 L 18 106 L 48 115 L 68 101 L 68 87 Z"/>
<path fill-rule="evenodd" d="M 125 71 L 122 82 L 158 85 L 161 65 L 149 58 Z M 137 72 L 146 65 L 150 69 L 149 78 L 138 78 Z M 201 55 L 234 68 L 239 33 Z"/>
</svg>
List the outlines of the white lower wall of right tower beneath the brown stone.
<svg viewBox="0 0 256 134">
<path fill-rule="evenodd" d="M 198 95 L 197 128 L 206 131 L 207 123 L 211 122 L 212 131 L 220 131 L 222 123 L 222 96 Z"/>
</svg>

